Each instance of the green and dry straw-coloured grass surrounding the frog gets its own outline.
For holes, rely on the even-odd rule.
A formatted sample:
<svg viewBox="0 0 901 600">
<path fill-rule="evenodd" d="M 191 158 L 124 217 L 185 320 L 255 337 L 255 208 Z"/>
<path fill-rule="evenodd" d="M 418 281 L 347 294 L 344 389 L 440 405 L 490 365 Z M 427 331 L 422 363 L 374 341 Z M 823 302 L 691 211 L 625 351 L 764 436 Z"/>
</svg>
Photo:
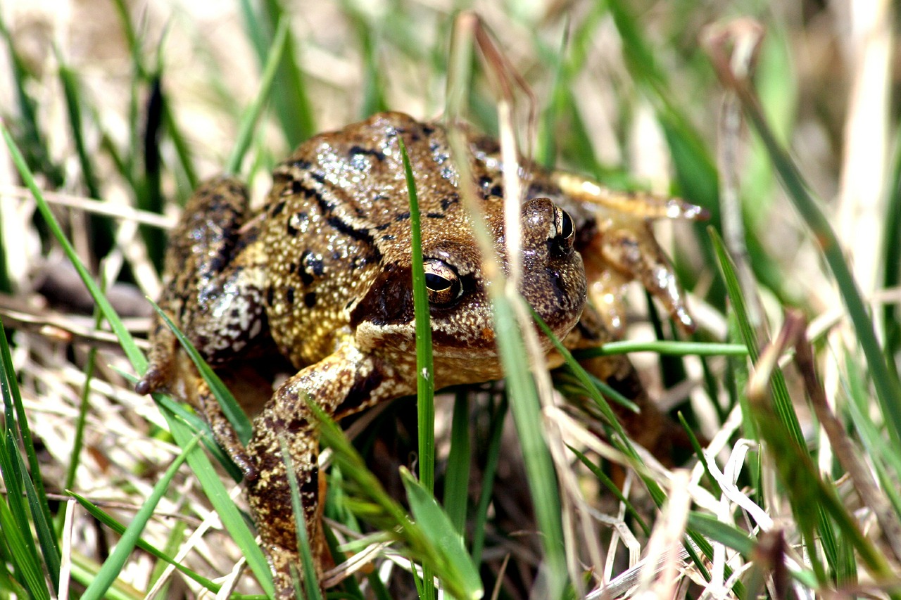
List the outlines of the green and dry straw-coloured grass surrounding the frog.
<svg viewBox="0 0 901 600">
<path fill-rule="evenodd" d="M 80 52 L 52 28 L 35 46 L 24 17 L 0 10 L 11 84 L 0 157 L 26 188 L 0 186 L 0 597 L 271 592 L 237 473 L 205 424 L 131 393 L 164 236 L 110 214 L 121 203 L 172 214 L 221 171 L 265 187 L 314 132 L 386 107 L 428 118 L 445 106 L 500 137 L 537 132 L 520 143 L 543 164 L 703 205 L 709 223 L 658 230 L 699 327 L 682 334 L 630 293 L 626 339 L 554 374 L 560 392 L 587 398 L 567 403 L 528 367 L 527 311 L 486 264 L 509 334 L 498 340 L 504 386 L 433 406 L 421 396 L 418 421 L 402 400 L 346 434 L 323 424 L 326 514 L 348 559 L 330 575 L 350 575 L 341 597 L 434 597 L 432 574 L 454 597 L 901 597 L 897 117 L 851 94 L 882 89 L 887 101 L 889 69 L 824 54 L 853 43 L 834 14 L 611 0 L 542 15 L 510 3 L 483 14 L 501 57 L 475 30 L 451 44 L 453 19 L 432 5 L 294 14 L 241 2 L 227 19 L 114 6 L 71 7 L 85 12 L 76 39 L 89 23 L 107 32 Z M 769 30 L 759 51 L 753 23 L 700 24 L 736 14 Z M 753 77 L 736 59 L 747 49 Z M 881 64 L 879 51 L 860 56 Z M 522 90 L 514 105 L 497 94 L 505 60 L 538 98 L 534 123 Z M 869 161 L 841 151 L 845 123 L 864 117 L 885 132 Z M 876 208 L 848 191 L 867 177 L 882 190 Z M 54 205 L 55 192 L 83 199 Z M 832 215 L 866 210 L 885 231 L 849 243 L 854 223 Z M 60 250 L 95 315 L 72 308 L 72 292 L 65 304 L 54 295 L 61 269 L 43 267 L 40 290 L 26 277 Z M 831 326 L 805 333 L 819 317 Z M 623 352 L 703 433 L 703 461 L 664 468 L 624 435 L 614 390 L 577 362 Z"/>
</svg>

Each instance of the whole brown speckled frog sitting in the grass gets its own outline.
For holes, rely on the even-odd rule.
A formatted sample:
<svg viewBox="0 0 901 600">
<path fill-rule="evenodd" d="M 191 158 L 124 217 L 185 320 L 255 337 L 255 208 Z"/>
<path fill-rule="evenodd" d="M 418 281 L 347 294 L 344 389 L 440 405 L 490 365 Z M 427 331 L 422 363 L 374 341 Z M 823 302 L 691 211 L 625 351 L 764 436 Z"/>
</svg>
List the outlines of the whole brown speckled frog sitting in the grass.
<svg viewBox="0 0 901 600">
<path fill-rule="evenodd" d="M 298 564 L 281 441 L 296 468 L 314 557 L 327 560 L 319 442 L 308 398 L 340 419 L 416 390 L 410 212 L 398 138 L 409 153 L 422 214 L 435 386 L 502 377 L 478 245 L 439 124 L 387 113 L 316 136 L 276 168 L 259 210 L 250 208 L 243 185 L 214 179 L 193 195 L 170 239 L 159 305 L 239 400 L 256 409 L 252 439 L 246 448 L 237 439 L 159 320 L 150 368 L 137 389 L 195 405 L 243 470 L 279 595 L 293 597 L 290 572 Z M 470 135 L 469 150 L 504 267 L 503 164 L 495 141 Z M 527 162 L 520 167 L 528 173 L 520 292 L 569 348 L 596 346 L 620 332 L 621 286 L 632 279 L 690 325 L 648 220 L 692 218 L 699 209 L 613 194 Z M 277 366 L 293 375 L 273 391 Z M 665 419 L 646 402 L 627 359 L 592 359 L 586 366 L 642 405 L 634 426 L 626 423 L 637 441 L 666 443 Z"/>
</svg>

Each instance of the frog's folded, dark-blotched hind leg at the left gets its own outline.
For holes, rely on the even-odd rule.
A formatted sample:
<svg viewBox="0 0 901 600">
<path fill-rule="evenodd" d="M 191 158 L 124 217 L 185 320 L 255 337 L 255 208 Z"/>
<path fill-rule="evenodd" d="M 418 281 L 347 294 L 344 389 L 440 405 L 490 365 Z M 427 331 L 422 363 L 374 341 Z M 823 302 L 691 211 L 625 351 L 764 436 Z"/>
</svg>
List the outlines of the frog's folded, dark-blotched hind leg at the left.
<svg viewBox="0 0 901 600">
<path fill-rule="evenodd" d="M 241 355 L 265 331 L 256 232 L 247 223 L 247 188 L 219 177 L 198 187 L 169 236 L 159 307 L 214 368 Z M 248 477 L 241 442 L 168 325 L 156 317 L 139 394 L 166 392 L 204 414 L 217 441 Z"/>
</svg>

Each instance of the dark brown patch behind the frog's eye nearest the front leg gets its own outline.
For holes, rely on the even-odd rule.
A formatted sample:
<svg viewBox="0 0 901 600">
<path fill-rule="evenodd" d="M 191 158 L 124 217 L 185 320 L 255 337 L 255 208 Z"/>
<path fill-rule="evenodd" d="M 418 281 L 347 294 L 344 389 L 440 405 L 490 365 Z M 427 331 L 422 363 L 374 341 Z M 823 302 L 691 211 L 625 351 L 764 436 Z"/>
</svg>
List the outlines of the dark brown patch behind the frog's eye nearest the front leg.
<svg viewBox="0 0 901 600">
<path fill-rule="evenodd" d="M 350 326 L 363 321 L 376 325 L 396 325 L 413 320 L 413 291 L 410 268 L 390 264 L 378 274 L 369 292 L 350 312 Z"/>
</svg>

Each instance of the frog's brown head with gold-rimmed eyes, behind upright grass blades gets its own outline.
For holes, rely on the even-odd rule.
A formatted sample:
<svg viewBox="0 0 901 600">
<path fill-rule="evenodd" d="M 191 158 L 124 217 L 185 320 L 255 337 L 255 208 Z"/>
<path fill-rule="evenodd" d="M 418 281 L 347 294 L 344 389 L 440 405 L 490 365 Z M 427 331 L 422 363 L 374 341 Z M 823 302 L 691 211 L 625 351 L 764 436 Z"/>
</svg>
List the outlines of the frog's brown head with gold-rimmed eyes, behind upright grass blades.
<svg viewBox="0 0 901 600">
<path fill-rule="evenodd" d="M 500 204 L 499 198 L 487 199 L 487 226 L 495 238 L 501 266 L 507 271 Z M 458 208 L 463 210 L 462 206 Z M 534 198 L 523 204 L 522 218 L 520 292 L 544 323 L 563 338 L 578 323 L 586 301 L 585 270 L 573 247 L 573 222 L 569 214 L 547 198 Z M 451 226 L 458 221 L 464 226 Z M 500 375 L 489 284 L 467 222 L 465 218 L 423 220 L 423 268 L 439 385 Z M 353 308 L 350 321 L 362 346 L 414 355 L 414 303 L 408 260 L 383 265 L 366 295 Z M 550 348 L 550 341 L 544 340 L 544 344 Z"/>
</svg>

